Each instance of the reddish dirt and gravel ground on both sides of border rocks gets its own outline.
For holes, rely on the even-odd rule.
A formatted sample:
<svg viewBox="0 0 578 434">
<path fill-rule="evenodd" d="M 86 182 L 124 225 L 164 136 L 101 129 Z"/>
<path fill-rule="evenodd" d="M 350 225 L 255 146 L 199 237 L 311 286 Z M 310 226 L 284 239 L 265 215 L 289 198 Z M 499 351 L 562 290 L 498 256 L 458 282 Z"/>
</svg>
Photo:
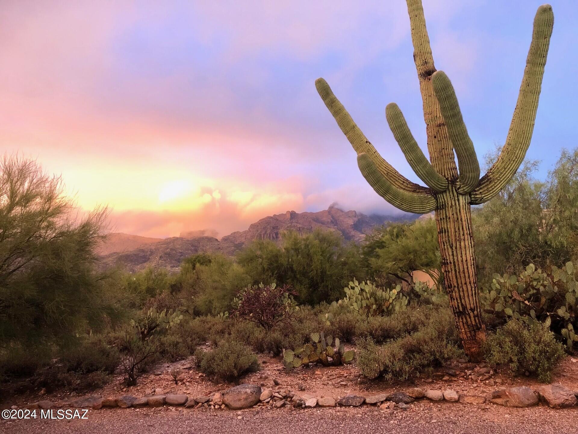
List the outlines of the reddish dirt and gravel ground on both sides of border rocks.
<svg viewBox="0 0 578 434">
<path fill-rule="evenodd" d="M 474 381 L 464 374 L 472 372 L 476 365 L 453 362 L 431 375 L 413 382 L 391 384 L 384 381 L 367 381 L 360 378 L 355 365 L 337 367 L 309 367 L 294 369 L 287 373 L 280 358 L 260 356 L 262 370 L 250 374 L 240 382 L 259 384 L 274 389 L 290 389 L 301 396 L 332 396 L 339 398 L 349 393 L 371 396 L 412 387 L 428 389 L 453 389 L 460 395 L 489 396 L 503 387 L 528 385 L 536 388 L 540 383 L 527 377 L 511 377 L 498 370 L 487 380 Z M 180 369 L 179 384 L 171 377 L 172 369 Z M 505 371 L 505 370 L 504 370 Z M 493 385 L 492 385 L 493 382 Z M 554 373 L 553 382 L 578 390 L 578 359 L 567 357 Z M 275 384 L 278 383 L 278 384 Z M 163 364 L 139 379 L 135 387 L 124 387 L 122 376 L 116 376 L 103 389 L 91 392 L 105 397 L 133 395 L 144 396 L 155 388 L 162 393 L 187 393 L 191 396 L 210 395 L 223 391 L 233 384 L 215 384 L 197 372 L 192 359 Z M 299 391 L 299 388 L 305 389 Z M 5 396 L 0 407 L 19 407 L 41 399 L 53 402 L 72 400 L 74 393 L 56 392 L 38 395 L 26 393 L 21 396 Z M 510 409 L 494 404 L 462 404 L 417 400 L 409 409 L 380 410 L 377 406 L 359 408 L 338 407 L 334 409 L 281 409 L 253 407 L 242 411 L 183 409 L 182 407 L 159 407 L 151 409 L 102 409 L 90 410 L 88 420 L 0 420 L 0 432 L 10 433 L 287 433 L 303 432 L 395 432 L 395 433 L 576 433 L 578 434 L 578 407 L 551 410 L 543 404 L 527 409 Z"/>
</svg>

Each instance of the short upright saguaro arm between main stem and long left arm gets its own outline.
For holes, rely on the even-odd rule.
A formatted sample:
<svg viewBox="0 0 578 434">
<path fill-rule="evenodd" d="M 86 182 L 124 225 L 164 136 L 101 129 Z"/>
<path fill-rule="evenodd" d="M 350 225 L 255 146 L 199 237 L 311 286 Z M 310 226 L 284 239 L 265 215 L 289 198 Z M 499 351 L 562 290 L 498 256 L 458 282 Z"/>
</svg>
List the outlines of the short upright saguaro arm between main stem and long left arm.
<svg viewBox="0 0 578 434">
<path fill-rule="evenodd" d="M 399 148 L 403 151 L 407 163 L 416 172 L 416 175 L 436 192 L 446 191 L 447 179 L 436 172 L 425 158 L 424 153 L 417 145 L 416 139 L 413 138 L 412 131 L 410 131 L 405 122 L 403 113 L 395 102 L 391 102 L 386 106 L 386 118 L 391 132 L 394 133 L 395 140 L 399 144 Z"/>
</svg>

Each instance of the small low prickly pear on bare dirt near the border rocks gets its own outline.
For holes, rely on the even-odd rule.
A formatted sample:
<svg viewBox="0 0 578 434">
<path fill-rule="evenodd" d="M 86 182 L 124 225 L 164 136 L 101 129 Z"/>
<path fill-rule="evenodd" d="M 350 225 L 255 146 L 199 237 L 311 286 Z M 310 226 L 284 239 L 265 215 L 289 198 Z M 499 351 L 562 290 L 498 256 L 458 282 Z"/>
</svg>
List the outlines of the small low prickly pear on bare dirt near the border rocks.
<svg viewBox="0 0 578 434">
<path fill-rule="evenodd" d="M 283 365 L 285 369 L 318 363 L 324 366 L 337 366 L 351 363 L 355 357 L 355 351 L 345 350 L 345 346 L 339 339 L 325 336 L 323 332 L 311 334 L 311 344 L 305 344 L 299 350 L 283 350 Z"/>
</svg>

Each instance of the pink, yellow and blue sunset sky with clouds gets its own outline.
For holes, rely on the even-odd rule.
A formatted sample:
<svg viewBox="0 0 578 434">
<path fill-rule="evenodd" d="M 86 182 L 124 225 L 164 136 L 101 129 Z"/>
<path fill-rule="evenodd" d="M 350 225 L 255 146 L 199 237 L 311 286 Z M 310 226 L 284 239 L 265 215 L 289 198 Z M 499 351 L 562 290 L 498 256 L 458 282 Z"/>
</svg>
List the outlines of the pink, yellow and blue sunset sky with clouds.
<svg viewBox="0 0 578 434">
<path fill-rule="evenodd" d="M 437 69 L 452 80 L 477 156 L 502 145 L 541 4 L 423 0 Z M 545 178 L 578 133 L 578 2 L 555 23 L 527 157 Z M 397 102 L 427 155 L 403 0 L 2 0 L 0 149 L 61 174 L 114 231 L 220 236 L 288 210 L 377 196 L 317 94 L 328 80 L 412 181 L 384 116 Z"/>
</svg>

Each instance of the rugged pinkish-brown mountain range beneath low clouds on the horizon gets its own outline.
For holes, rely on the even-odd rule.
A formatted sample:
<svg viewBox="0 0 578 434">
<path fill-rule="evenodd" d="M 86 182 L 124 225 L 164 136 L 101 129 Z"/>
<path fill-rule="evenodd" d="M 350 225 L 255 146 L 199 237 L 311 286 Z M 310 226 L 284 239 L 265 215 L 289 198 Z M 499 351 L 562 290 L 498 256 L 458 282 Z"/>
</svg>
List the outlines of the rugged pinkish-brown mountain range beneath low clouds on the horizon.
<svg viewBox="0 0 578 434">
<path fill-rule="evenodd" d="M 195 253 L 218 252 L 232 256 L 253 240 L 279 242 L 281 234 L 286 230 L 300 234 L 315 229 L 332 230 L 341 233 L 347 241 L 360 242 L 375 226 L 415 218 L 412 214 L 368 216 L 357 211 L 342 211 L 336 207 L 318 212 L 287 211 L 262 218 L 252 223 L 249 229 L 236 231 L 221 240 L 207 236 L 213 234 L 210 230 L 181 233 L 180 237 L 164 239 L 112 233 L 106 236 L 98 253 L 104 266 L 119 264 L 127 271 L 139 271 L 154 266 L 176 271 L 184 258 Z"/>
</svg>

